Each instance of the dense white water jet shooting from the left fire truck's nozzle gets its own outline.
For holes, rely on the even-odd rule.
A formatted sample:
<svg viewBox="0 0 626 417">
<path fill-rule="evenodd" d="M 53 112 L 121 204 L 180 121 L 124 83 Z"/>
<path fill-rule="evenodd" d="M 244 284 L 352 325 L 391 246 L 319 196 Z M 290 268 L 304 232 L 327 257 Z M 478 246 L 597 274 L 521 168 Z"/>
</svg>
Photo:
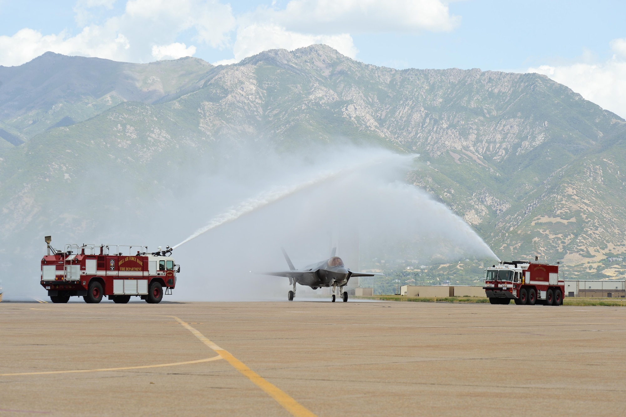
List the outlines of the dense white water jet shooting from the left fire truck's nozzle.
<svg viewBox="0 0 626 417">
<path fill-rule="evenodd" d="M 398 156 L 399 155 L 396 155 L 396 157 Z M 413 157 L 415 157 L 415 155 L 411 155 L 411 159 L 413 159 Z M 349 168 L 344 168 L 344 169 L 337 170 L 337 171 L 325 172 L 322 175 L 319 175 L 318 177 L 312 178 L 311 180 L 305 181 L 303 183 L 291 185 L 289 187 L 277 188 L 275 190 L 270 190 L 268 192 L 260 193 L 259 195 L 257 195 L 257 197 L 248 198 L 247 200 L 244 200 L 238 205 L 230 207 L 230 209 L 228 209 L 227 212 L 217 215 L 216 217 L 213 217 L 213 219 L 210 222 L 208 222 L 207 225 L 205 225 L 204 227 L 200 227 L 200 229 L 193 232 L 193 234 L 190 235 L 187 239 L 183 240 L 177 245 L 174 245 L 172 249 L 176 249 L 180 245 L 185 244 L 192 239 L 195 239 L 196 237 L 208 232 L 209 230 L 215 229 L 216 227 L 221 226 L 225 223 L 232 222 L 233 220 L 237 220 L 239 219 L 239 217 L 242 217 L 242 215 L 249 214 L 250 212 L 253 212 L 254 210 L 260 209 L 261 207 L 265 207 L 266 205 L 277 202 L 281 198 L 285 198 L 285 197 L 288 197 L 289 195 L 300 192 L 304 190 L 305 188 L 309 188 L 319 183 L 341 177 L 341 175 L 344 175 L 349 172 L 354 172 L 358 168 L 362 168 L 367 165 L 374 165 L 376 163 L 381 163 L 381 162 L 382 162 L 382 158 L 376 158 L 374 160 L 359 163 Z"/>
</svg>

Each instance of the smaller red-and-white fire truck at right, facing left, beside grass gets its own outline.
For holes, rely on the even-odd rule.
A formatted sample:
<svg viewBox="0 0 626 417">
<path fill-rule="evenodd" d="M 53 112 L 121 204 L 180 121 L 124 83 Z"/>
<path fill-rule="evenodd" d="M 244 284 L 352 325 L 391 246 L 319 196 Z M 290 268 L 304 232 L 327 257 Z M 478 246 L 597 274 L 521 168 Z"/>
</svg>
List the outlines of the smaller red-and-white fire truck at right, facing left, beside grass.
<svg viewBox="0 0 626 417">
<path fill-rule="evenodd" d="M 560 306 L 565 294 L 565 278 L 558 265 L 515 260 L 485 269 L 485 292 L 491 304 Z"/>
</svg>

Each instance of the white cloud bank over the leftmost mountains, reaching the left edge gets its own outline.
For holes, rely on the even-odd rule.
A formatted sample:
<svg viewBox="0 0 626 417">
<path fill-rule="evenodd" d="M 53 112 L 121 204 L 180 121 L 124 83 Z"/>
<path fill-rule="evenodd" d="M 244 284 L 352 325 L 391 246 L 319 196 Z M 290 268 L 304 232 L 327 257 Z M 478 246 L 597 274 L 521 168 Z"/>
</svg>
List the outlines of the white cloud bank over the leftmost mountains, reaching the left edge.
<svg viewBox="0 0 626 417">
<path fill-rule="evenodd" d="M 83 0 L 74 11 L 77 19 L 85 18 L 90 16 L 85 12 L 88 8 L 109 8 L 113 3 Z M 176 42 L 184 31 L 194 31 L 194 39 L 200 43 L 223 48 L 230 42 L 235 24 L 230 6 L 215 0 L 129 0 L 123 14 L 101 25 L 84 26 L 76 36 L 66 31 L 44 35 L 28 28 L 13 36 L 0 36 L 0 65 L 23 64 L 46 51 L 130 62 L 153 61 L 156 56 L 180 58 L 196 50 Z"/>
</svg>

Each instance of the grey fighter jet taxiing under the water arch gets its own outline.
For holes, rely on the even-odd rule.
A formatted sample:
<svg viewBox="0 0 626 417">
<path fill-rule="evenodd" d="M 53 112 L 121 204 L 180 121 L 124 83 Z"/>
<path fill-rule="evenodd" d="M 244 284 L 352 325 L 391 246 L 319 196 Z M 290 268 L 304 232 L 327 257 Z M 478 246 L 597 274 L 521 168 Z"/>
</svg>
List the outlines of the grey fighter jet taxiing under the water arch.
<svg viewBox="0 0 626 417">
<path fill-rule="evenodd" d="M 337 248 L 332 248 L 331 257 L 326 260 L 321 260 L 316 264 L 310 264 L 304 267 L 304 269 L 295 269 L 285 249 L 282 249 L 282 254 L 285 255 L 287 265 L 289 265 L 288 271 L 282 272 L 264 272 L 264 275 L 274 275 L 277 277 L 289 278 L 289 285 L 294 286 L 293 291 L 289 291 L 287 299 L 293 301 L 295 297 L 295 284 L 301 286 L 309 286 L 312 289 L 318 289 L 319 287 L 332 287 L 332 302 L 335 302 L 335 294 L 337 288 L 339 288 L 339 296 L 341 296 L 344 302 L 348 301 L 348 293 L 344 292 L 344 287 L 348 284 L 351 277 L 373 277 L 374 275 L 382 274 L 367 274 L 365 272 L 352 272 L 344 265 L 344 261 L 340 257 L 335 256 Z"/>
</svg>

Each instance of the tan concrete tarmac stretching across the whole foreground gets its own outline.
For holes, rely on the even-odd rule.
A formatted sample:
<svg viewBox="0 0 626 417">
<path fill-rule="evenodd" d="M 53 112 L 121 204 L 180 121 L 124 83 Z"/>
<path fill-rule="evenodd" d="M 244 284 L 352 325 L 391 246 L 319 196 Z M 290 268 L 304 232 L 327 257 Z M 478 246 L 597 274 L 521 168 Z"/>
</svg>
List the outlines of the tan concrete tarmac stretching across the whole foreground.
<svg viewBox="0 0 626 417">
<path fill-rule="evenodd" d="M 0 416 L 291 415 L 262 381 L 317 416 L 623 415 L 625 341 L 619 307 L 3 302 Z"/>
</svg>

